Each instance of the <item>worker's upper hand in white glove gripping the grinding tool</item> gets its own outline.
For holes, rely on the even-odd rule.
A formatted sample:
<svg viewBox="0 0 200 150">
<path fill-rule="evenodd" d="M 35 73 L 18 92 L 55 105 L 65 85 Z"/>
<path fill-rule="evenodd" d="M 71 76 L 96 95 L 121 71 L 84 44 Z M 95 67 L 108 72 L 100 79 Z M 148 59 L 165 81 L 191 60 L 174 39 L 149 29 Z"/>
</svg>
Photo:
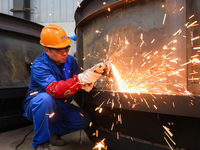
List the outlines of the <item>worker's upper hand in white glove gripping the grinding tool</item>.
<svg viewBox="0 0 200 150">
<path fill-rule="evenodd" d="M 99 63 L 92 68 L 85 70 L 83 73 L 78 74 L 78 79 L 82 85 L 96 82 L 102 75 L 106 65 Z"/>
</svg>

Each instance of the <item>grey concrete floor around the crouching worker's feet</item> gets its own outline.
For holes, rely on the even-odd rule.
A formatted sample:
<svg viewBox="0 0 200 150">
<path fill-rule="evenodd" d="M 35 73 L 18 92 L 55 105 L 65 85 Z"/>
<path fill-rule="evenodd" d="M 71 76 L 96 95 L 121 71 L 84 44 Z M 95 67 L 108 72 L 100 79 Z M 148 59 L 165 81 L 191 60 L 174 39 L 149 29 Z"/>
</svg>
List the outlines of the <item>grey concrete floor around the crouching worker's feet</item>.
<svg viewBox="0 0 200 150">
<path fill-rule="evenodd" d="M 15 150 L 15 147 L 21 143 L 24 136 L 33 129 L 32 125 L 22 127 L 15 130 L 0 133 L 0 150 Z M 26 137 L 24 143 L 18 147 L 17 150 L 34 150 L 32 148 L 32 137 L 34 132 Z M 92 150 L 94 144 L 88 139 L 86 133 L 81 131 L 80 144 L 80 131 L 67 134 L 62 137 L 68 143 L 66 146 L 51 146 L 51 150 Z"/>
</svg>

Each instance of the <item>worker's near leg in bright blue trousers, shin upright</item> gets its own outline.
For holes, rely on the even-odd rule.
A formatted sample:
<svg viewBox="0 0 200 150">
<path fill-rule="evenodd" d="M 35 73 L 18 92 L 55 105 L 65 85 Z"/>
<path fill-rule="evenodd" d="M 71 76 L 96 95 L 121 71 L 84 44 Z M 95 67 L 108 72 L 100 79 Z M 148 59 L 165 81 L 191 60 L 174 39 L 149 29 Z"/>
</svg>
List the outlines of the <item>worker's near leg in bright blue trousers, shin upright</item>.
<svg viewBox="0 0 200 150">
<path fill-rule="evenodd" d="M 47 93 L 40 93 L 30 100 L 26 116 L 33 121 L 35 135 L 33 147 L 50 140 L 49 115 L 54 112 L 55 100 Z"/>
</svg>

